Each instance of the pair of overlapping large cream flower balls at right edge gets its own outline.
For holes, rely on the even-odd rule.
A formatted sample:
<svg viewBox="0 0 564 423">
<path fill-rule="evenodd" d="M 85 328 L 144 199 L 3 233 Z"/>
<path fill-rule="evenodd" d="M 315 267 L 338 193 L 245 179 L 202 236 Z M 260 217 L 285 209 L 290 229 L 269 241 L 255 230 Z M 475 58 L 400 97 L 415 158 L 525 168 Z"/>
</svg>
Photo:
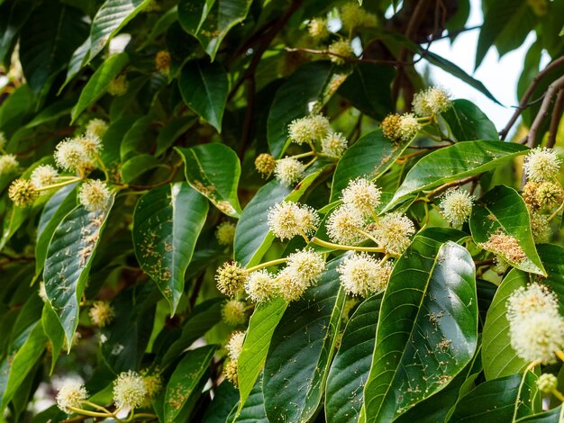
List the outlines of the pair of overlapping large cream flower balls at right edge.
<svg viewBox="0 0 564 423">
<path fill-rule="evenodd" d="M 541 284 L 519 288 L 507 300 L 511 347 L 526 362 L 556 363 L 564 347 L 564 319 L 554 293 Z"/>
</svg>

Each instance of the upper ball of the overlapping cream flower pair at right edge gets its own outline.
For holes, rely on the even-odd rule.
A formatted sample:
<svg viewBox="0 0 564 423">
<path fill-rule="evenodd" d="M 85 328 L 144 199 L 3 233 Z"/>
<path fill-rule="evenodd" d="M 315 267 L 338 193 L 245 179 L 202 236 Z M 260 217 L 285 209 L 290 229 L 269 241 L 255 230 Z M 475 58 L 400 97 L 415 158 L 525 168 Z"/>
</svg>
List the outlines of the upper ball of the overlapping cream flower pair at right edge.
<svg viewBox="0 0 564 423">
<path fill-rule="evenodd" d="M 558 299 L 548 287 L 542 284 L 529 284 L 512 293 L 506 302 L 507 320 L 526 319 L 531 313 L 549 312 L 558 314 Z"/>
</svg>

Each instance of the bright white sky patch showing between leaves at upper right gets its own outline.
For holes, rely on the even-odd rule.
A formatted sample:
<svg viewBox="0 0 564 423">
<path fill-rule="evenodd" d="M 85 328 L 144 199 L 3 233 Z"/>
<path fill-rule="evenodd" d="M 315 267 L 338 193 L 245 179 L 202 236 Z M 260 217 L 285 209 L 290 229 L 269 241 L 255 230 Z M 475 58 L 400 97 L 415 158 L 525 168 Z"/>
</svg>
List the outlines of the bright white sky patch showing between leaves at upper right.
<svg viewBox="0 0 564 423">
<path fill-rule="evenodd" d="M 471 9 L 467 27 L 480 25 L 483 21 L 481 2 L 471 0 Z M 501 59 L 495 47 L 488 50 L 476 73 L 474 73 L 474 62 L 476 58 L 476 46 L 478 45 L 479 30 L 462 32 L 450 45 L 449 39 L 434 41 L 431 46 L 433 53 L 450 60 L 469 75 L 486 85 L 490 93 L 504 104 L 505 107 L 489 100 L 486 95 L 481 94 L 475 88 L 460 81 L 457 77 L 451 76 L 439 67 L 429 65 L 425 60 L 420 61 L 416 67 L 423 71 L 425 67 L 431 67 L 432 82 L 447 88 L 453 98 L 466 98 L 476 103 L 483 112 L 487 114 L 498 130 L 505 127 L 519 101 L 517 100 L 517 81 L 523 71 L 524 57 L 527 50 L 535 40 L 533 32 L 529 34 L 520 49 L 515 49 L 505 54 Z"/>
</svg>

